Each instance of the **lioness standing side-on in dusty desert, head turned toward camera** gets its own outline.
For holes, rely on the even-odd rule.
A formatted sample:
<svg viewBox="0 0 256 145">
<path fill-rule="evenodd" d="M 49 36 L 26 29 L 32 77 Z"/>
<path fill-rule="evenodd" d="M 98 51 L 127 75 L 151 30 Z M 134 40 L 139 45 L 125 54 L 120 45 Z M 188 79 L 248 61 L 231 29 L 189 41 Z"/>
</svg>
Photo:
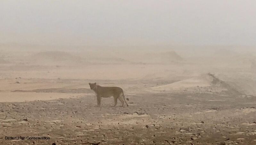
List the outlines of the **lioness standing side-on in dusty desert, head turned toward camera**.
<svg viewBox="0 0 256 145">
<path fill-rule="evenodd" d="M 101 105 L 101 97 L 107 98 L 107 97 L 114 97 L 115 104 L 112 107 L 115 107 L 117 104 L 117 99 L 120 100 L 122 103 L 122 107 L 124 106 L 125 98 L 124 98 L 124 91 L 120 87 L 102 87 L 100 85 L 96 85 L 96 83 L 89 83 L 90 88 L 95 92 L 97 96 L 97 106 Z M 123 96 L 123 98 L 121 97 Z M 128 104 L 126 103 L 127 107 Z"/>
</svg>

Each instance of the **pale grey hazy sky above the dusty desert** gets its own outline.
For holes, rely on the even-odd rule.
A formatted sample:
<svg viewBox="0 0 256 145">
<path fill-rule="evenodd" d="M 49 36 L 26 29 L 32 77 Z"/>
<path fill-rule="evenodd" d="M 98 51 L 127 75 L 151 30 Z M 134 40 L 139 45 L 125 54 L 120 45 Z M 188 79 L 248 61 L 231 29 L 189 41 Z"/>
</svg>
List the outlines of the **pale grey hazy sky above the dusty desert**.
<svg viewBox="0 0 256 145">
<path fill-rule="evenodd" d="M 255 0 L 1 0 L 0 43 L 256 45 Z"/>
</svg>

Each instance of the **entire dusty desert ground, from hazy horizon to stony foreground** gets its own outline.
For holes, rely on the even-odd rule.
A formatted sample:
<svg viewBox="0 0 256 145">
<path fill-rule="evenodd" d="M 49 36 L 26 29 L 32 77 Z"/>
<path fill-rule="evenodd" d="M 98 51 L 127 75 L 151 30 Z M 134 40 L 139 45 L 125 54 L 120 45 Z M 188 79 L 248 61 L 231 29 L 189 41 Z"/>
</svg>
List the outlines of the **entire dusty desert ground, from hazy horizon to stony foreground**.
<svg viewBox="0 0 256 145">
<path fill-rule="evenodd" d="M 0 47 L 0 144 L 256 144 L 255 50 L 33 47 Z M 89 82 L 129 107 L 95 107 Z"/>
</svg>

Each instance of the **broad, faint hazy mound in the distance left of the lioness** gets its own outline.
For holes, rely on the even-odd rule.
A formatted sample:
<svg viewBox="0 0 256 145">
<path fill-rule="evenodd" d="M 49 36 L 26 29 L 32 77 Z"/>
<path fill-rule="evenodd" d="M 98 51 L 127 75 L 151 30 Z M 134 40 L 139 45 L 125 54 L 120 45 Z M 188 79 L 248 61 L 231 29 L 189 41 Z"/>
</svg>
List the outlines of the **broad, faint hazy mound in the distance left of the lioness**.
<svg viewBox="0 0 256 145">
<path fill-rule="evenodd" d="M 39 64 L 73 64 L 81 63 L 85 60 L 81 57 L 71 55 L 67 52 L 62 51 L 45 51 L 38 52 L 29 57 L 30 62 Z"/>
</svg>

